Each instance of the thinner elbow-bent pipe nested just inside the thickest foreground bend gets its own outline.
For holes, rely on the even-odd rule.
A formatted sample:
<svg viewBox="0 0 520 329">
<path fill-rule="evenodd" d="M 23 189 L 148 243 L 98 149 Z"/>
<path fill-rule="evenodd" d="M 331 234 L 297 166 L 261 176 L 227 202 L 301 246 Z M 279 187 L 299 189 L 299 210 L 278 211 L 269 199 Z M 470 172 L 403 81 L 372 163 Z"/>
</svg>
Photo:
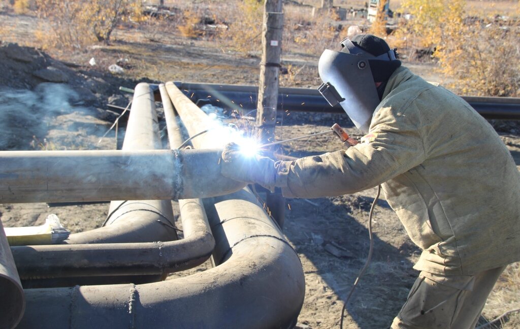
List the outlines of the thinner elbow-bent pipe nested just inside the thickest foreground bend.
<svg viewBox="0 0 520 329">
<path fill-rule="evenodd" d="M 189 269 L 210 257 L 214 239 L 200 202 L 181 207 L 184 239 L 11 247 L 22 279 L 86 275 L 164 274 Z"/>
</svg>

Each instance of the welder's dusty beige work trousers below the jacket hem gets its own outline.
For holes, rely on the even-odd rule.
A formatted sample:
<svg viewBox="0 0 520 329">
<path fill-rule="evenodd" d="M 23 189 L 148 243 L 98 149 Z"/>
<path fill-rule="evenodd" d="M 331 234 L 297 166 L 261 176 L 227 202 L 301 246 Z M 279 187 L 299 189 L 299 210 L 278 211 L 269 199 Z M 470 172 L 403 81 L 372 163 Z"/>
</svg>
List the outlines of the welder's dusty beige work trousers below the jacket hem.
<svg viewBox="0 0 520 329">
<path fill-rule="evenodd" d="M 421 272 L 392 329 L 472 329 L 505 267 L 444 277 Z"/>
</svg>

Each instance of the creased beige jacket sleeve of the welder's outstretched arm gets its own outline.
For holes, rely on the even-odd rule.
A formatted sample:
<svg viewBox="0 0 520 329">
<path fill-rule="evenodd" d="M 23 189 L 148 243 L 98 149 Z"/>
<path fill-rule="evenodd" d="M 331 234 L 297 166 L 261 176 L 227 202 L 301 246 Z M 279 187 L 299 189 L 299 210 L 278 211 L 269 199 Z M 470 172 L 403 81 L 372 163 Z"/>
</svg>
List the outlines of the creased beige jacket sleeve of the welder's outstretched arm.
<svg viewBox="0 0 520 329">
<path fill-rule="evenodd" d="M 423 142 L 413 115 L 381 108 L 362 143 L 347 150 L 276 163 L 275 186 L 288 198 L 366 190 L 420 165 Z"/>
</svg>

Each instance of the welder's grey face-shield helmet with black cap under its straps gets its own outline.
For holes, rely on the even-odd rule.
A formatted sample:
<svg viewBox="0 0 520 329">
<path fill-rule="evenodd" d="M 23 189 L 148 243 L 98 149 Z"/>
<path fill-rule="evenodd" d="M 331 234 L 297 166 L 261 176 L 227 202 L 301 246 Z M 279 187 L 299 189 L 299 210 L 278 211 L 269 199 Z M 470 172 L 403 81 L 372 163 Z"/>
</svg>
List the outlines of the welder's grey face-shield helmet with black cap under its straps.
<svg viewBox="0 0 520 329">
<path fill-rule="evenodd" d="M 381 101 L 375 82 L 387 81 L 400 61 L 395 49 L 373 35 L 358 35 L 352 41 L 346 38 L 341 46 L 341 51 L 323 51 L 318 62 L 323 84 L 318 90 L 331 106 L 339 103 L 356 127 L 368 130 Z M 383 69 L 372 72 L 371 64 Z"/>
</svg>

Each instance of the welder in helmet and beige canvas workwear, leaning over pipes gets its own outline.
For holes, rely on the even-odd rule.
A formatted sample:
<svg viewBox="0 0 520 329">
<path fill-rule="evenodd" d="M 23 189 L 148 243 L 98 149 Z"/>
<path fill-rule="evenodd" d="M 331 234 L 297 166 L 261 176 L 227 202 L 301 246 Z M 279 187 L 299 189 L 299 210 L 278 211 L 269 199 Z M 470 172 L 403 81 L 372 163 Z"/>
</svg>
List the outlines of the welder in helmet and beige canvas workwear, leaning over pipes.
<svg viewBox="0 0 520 329">
<path fill-rule="evenodd" d="M 420 271 L 392 328 L 474 328 L 504 267 L 520 260 L 520 175 L 496 131 L 462 98 L 401 65 L 373 35 L 325 50 L 321 93 L 339 103 L 361 142 L 272 161 L 229 144 L 222 174 L 288 198 L 352 194 L 381 185 Z"/>
</svg>

